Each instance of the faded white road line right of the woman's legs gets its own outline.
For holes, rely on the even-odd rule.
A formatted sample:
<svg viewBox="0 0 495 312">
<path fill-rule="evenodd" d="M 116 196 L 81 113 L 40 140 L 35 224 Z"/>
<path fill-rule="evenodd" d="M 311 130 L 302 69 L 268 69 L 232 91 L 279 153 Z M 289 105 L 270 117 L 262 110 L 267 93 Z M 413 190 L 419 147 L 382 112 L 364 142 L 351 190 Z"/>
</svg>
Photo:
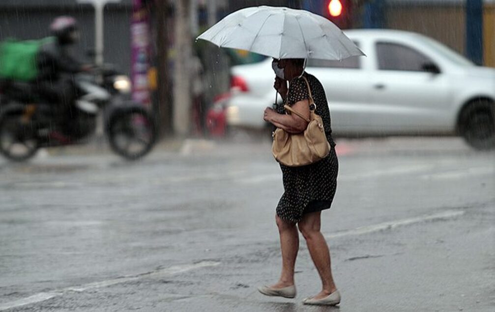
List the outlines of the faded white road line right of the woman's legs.
<svg viewBox="0 0 495 312">
<path fill-rule="evenodd" d="M 369 233 L 380 232 L 380 231 L 385 231 L 385 230 L 393 230 L 397 227 L 407 226 L 407 225 L 416 224 L 416 223 L 423 223 L 423 222 L 427 222 L 427 221 L 435 221 L 435 220 L 442 220 L 442 219 L 451 219 L 451 218 L 455 218 L 458 216 L 462 216 L 464 213 L 465 213 L 465 211 L 463 211 L 463 210 L 447 210 L 447 211 L 440 212 L 437 214 L 432 214 L 432 215 L 424 215 L 424 216 L 415 217 L 415 218 L 407 218 L 407 219 L 401 219 L 401 220 L 379 223 L 379 224 L 370 225 L 370 226 L 359 227 L 359 228 L 352 229 L 352 230 L 337 232 L 334 234 L 328 234 L 328 235 L 325 235 L 325 237 L 336 238 L 336 237 L 341 237 L 341 236 L 362 235 L 362 234 L 369 234 Z"/>
</svg>

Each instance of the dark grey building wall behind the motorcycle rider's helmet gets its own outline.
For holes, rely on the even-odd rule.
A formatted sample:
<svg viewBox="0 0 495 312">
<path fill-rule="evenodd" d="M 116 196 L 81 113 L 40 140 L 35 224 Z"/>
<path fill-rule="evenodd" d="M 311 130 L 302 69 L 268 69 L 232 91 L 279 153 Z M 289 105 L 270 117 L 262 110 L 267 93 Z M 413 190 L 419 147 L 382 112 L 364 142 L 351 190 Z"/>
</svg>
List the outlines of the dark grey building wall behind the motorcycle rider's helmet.
<svg viewBox="0 0 495 312">
<path fill-rule="evenodd" d="M 104 10 L 104 61 L 116 64 L 123 73 L 130 72 L 130 34 L 132 1 L 109 3 Z M 0 40 L 38 39 L 49 36 L 51 20 L 59 15 L 75 17 L 80 26 L 81 42 L 74 53 L 80 59 L 95 46 L 95 11 L 90 4 L 76 0 L 0 1 Z"/>
</svg>

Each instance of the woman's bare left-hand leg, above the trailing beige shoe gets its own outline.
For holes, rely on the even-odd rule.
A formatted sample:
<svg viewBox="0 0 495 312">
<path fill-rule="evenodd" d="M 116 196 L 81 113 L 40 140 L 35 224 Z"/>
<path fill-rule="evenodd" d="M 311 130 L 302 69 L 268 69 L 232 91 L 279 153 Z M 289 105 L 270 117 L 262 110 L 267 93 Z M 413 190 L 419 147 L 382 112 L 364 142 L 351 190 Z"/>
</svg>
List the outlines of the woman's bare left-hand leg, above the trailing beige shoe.
<svg viewBox="0 0 495 312">
<path fill-rule="evenodd" d="M 299 233 L 296 224 L 275 217 L 280 234 L 280 249 L 282 250 L 282 273 L 279 281 L 270 286 L 274 289 L 294 285 L 294 268 L 297 251 L 299 250 Z"/>
</svg>

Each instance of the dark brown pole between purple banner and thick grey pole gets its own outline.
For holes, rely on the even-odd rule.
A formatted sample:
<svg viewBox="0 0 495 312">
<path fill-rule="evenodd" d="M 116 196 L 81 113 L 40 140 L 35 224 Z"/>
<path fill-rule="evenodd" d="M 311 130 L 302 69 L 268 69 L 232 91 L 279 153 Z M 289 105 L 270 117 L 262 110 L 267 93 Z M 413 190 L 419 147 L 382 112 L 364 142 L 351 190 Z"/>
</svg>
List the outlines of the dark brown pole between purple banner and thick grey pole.
<svg viewBox="0 0 495 312">
<path fill-rule="evenodd" d="M 172 127 L 172 97 L 170 96 L 170 81 L 168 72 L 168 36 L 167 16 L 169 15 L 168 0 L 158 0 L 156 3 L 156 53 L 158 76 L 158 114 L 160 129 L 164 135 L 173 133 Z"/>
</svg>

